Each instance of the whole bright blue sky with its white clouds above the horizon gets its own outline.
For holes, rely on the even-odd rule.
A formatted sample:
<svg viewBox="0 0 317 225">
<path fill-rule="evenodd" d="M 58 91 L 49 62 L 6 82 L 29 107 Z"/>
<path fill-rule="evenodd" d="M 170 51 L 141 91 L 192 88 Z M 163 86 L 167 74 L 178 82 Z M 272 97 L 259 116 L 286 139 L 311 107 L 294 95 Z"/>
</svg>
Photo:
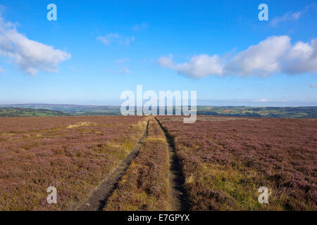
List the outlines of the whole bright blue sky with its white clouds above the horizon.
<svg viewBox="0 0 317 225">
<path fill-rule="evenodd" d="M 56 21 L 46 19 L 50 3 Z M 268 21 L 258 19 L 261 3 Z M 142 84 L 195 90 L 205 105 L 317 105 L 314 1 L 0 6 L 0 104 L 119 105 L 122 91 Z"/>
</svg>

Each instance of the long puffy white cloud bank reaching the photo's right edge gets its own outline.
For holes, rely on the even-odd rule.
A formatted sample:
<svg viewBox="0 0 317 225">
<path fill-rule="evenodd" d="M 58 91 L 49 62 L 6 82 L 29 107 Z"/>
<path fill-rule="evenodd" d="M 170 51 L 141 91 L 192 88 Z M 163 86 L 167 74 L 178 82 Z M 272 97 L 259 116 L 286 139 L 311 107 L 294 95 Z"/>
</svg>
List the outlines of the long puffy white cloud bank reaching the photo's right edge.
<svg viewBox="0 0 317 225">
<path fill-rule="evenodd" d="M 225 55 L 227 55 L 225 53 Z M 232 58 L 206 54 L 192 56 L 187 63 L 174 63 L 173 56 L 159 58 L 159 65 L 193 78 L 208 75 L 238 75 L 268 77 L 278 72 L 297 75 L 317 72 L 317 39 L 311 43 L 297 42 L 292 46 L 290 37 L 273 36 L 249 46 Z"/>
</svg>

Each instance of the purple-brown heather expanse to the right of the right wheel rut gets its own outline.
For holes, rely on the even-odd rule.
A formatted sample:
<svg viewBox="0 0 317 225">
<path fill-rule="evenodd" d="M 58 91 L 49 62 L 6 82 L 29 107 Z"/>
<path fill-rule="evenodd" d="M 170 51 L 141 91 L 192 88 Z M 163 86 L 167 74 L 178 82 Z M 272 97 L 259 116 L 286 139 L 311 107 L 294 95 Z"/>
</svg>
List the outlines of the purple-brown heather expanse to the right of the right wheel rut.
<svg viewBox="0 0 317 225">
<path fill-rule="evenodd" d="M 317 120 L 159 120 L 175 139 L 191 210 L 317 210 Z"/>
</svg>

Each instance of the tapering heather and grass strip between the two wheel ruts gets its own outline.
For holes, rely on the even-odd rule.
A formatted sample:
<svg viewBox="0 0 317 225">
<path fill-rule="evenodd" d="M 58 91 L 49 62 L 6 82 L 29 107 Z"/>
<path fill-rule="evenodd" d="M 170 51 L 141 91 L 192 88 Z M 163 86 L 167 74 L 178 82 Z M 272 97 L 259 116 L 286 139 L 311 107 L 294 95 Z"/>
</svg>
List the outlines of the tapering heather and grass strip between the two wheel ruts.
<svg viewBox="0 0 317 225">
<path fill-rule="evenodd" d="M 166 139 L 151 117 L 147 139 L 104 210 L 171 210 L 168 176 Z"/>
</svg>

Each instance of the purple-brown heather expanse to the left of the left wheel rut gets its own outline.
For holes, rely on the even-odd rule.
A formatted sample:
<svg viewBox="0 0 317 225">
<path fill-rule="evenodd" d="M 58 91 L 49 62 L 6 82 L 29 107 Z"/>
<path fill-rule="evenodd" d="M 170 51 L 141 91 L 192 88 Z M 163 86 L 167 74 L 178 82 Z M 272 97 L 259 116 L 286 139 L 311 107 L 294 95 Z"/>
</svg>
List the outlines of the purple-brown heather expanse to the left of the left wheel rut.
<svg viewBox="0 0 317 225">
<path fill-rule="evenodd" d="M 142 136 L 145 117 L 0 117 L 0 210 L 71 210 Z M 57 188 L 48 204 L 46 188 Z"/>
</svg>

